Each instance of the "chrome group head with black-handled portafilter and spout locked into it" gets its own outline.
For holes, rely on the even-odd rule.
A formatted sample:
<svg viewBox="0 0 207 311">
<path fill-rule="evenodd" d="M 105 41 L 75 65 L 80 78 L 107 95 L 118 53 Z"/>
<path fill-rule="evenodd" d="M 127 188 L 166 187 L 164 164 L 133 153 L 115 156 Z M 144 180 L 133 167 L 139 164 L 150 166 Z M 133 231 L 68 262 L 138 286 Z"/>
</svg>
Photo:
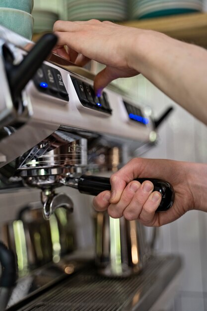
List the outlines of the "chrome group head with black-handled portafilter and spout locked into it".
<svg viewBox="0 0 207 311">
<path fill-rule="evenodd" d="M 40 188 L 43 215 L 46 219 L 58 207 L 71 210 L 70 198 L 65 193 L 56 193 L 60 186 L 76 188 L 80 193 L 97 195 L 111 190 L 110 179 L 82 174 L 87 172 L 87 139 L 65 131 L 56 131 L 19 159 L 18 175 L 30 187 Z M 172 186 L 154 178 L 135 179 L 142 183 L 150 180 L 154 191 L 162 195 L 157 211 L 168 210 L 174 199 Z"/>
</svg>

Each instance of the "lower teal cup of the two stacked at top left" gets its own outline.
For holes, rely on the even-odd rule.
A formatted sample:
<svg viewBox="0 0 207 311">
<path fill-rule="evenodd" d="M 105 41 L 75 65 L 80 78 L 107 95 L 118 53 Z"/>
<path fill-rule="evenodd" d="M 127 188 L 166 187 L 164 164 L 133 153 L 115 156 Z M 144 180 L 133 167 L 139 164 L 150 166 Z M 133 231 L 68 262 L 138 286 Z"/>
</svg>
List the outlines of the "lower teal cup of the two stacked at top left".
<svg viewBox="0 0 207 311">
<path fill-rule="evenodd" d="M 0 7 L 0 25 L 31 40 L 34 19 L 31 14 L 14 8 Z"/>
</svg>

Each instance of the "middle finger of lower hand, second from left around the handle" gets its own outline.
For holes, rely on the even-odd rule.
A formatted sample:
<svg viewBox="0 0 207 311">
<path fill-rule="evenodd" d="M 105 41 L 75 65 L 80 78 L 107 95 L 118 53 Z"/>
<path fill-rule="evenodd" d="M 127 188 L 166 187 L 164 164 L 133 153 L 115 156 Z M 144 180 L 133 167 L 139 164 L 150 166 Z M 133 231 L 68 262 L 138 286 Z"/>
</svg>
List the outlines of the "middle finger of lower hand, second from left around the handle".
<svg viewBox="0 0 207 311">
<path fill-rule="evenodd" d="M 136 191 L 141 186 L 140 182 L 132 181 L 124 189 L 120 201 L 117 204 L 111 204 L 108 207 L 108 214 L 112 218 L 120 218 L 123 216 L 123 211 L 130 204 Z"/>
</svg>

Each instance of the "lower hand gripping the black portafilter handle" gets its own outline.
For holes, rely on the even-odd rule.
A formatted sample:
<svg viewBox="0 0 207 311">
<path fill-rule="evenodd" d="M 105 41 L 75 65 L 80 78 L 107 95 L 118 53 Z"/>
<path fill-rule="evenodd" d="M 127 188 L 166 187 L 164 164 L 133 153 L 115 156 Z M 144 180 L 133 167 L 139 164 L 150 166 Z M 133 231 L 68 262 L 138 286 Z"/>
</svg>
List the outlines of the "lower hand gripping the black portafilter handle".
<svg viewBox="0 0 207 311">
<path fill-rule="evenodd" d="M 165 159 L 134 158 L 111 176 L 112 191 L 104 191 L 93 199 L 97 211 L 108 209 L 113 218 L 138 219 L 145 226 L 162 226 L 181 217 L 187 211 L 207 211 L 207 164 Z M 158 178 L 171 183 L 175 191 L 173 206 L 155 213 L 161 195 L 153 184 L 141 185 L 135 178 Z"/>
</svg>

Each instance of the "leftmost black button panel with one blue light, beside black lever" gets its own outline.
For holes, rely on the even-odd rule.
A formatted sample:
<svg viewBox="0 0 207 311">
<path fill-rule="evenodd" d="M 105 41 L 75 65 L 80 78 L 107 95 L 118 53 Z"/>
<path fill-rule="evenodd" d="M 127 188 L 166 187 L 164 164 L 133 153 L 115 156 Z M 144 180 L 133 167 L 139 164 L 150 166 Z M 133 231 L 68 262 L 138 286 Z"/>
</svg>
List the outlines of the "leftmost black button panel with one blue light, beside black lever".
<svg viewBox="0 0 207 311">
<path fill-rule="evenodd" d="M 69 101 L 69 94 L 58 69 L 43 64 L 38 69 L 33 81 L 39 91 Z"/>
</svg>

